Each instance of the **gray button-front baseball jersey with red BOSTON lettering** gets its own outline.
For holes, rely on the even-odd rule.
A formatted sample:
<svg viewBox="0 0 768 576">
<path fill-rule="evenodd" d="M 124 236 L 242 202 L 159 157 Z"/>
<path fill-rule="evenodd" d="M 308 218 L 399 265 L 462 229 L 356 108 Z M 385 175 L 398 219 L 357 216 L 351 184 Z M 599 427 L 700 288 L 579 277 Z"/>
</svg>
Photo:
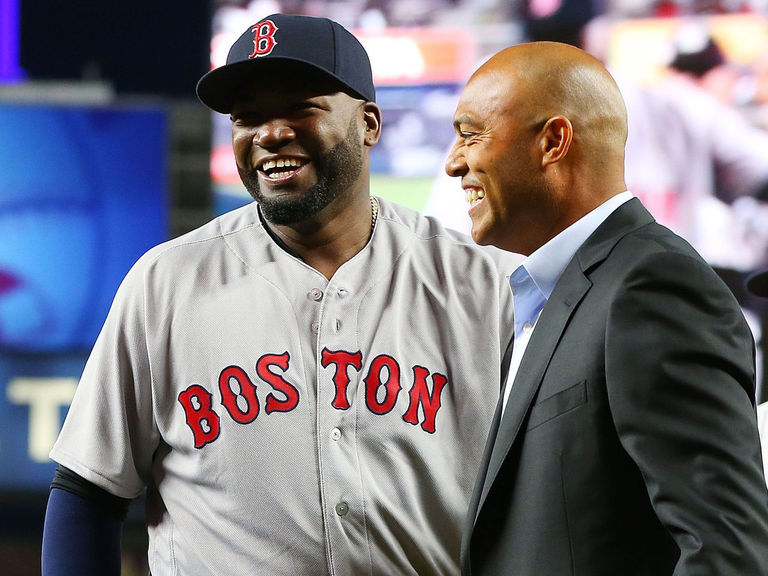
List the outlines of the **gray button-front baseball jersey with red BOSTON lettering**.
<svg viewBox="0 0 768 576">
<path fill-rule="evenodd" d="M 328 281 L 255 204 L 126 276 L 51 457 L 148 486 L 153 574 L 457 574 L 512 255 L 380 201 Z"/>
</svg>

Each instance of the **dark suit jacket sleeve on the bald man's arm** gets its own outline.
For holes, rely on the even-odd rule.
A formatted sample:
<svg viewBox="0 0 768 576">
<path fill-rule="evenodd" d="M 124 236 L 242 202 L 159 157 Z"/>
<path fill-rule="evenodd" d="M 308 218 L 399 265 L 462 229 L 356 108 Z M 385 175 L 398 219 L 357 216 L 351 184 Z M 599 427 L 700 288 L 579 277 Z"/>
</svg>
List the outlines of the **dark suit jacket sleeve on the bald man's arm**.
<svg viewBox="0 0 768 576">
<path fill-rule="evenodd" d="M 620 441 L 680 548 L 675 576 L 768 574 L 754 343 L 702 261 L 657 253 L 610 307 L 606 385 Z"/>
</svg>

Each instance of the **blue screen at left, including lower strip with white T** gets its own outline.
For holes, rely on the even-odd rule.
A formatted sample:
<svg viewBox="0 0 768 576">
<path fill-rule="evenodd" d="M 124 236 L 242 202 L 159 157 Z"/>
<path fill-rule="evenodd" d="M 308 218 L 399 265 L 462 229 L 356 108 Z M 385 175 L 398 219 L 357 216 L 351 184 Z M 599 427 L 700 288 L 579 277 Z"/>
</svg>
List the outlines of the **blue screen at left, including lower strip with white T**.
<svg viewBox="0 0 768 576">
<path fill-rule="evenodd" d="M 0 492 L 48 452 L 120 281 L 168 238 L 166 112 L 0 104 Z"/>
</svg>

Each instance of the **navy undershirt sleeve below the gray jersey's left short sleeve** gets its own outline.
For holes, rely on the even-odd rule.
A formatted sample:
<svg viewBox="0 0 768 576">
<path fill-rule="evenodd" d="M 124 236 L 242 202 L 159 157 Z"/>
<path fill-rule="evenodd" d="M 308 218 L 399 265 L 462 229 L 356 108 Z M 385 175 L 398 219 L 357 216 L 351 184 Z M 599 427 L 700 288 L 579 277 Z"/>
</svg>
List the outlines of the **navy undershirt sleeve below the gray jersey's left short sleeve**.
<svg viewBox="0 0 768 576">
<path fill-rule="evenodd" d="M 65 469 L 64 477 L 73 474 Z M 123 504 L 115 496 L 75 475 L 67 487 L 57 479 L 51 485 L 43 528 L 43 576 L 119 576 L 120 537 L 125 517 Z M 94 490 L 95 489 L 95 490 Z M 76 493 L 80 492 L 80 493 Z M 94 497 L 94 494 L 99 496 Z"/>
</svg>

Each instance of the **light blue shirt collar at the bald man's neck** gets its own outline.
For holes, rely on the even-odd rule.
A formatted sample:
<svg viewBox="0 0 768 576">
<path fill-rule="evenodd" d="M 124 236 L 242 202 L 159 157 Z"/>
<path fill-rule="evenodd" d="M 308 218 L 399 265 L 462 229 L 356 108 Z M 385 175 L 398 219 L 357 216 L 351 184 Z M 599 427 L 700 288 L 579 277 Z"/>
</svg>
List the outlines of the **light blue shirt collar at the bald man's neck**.
<svg viewBox="0 0 768 576">
<path fill-rule="evenodd" d="M 628 190 L 612 196 L 523 260 L 520 265 L 547 299 L 579 247 L 614 210 L 631 198 Z"/>
</svg>

